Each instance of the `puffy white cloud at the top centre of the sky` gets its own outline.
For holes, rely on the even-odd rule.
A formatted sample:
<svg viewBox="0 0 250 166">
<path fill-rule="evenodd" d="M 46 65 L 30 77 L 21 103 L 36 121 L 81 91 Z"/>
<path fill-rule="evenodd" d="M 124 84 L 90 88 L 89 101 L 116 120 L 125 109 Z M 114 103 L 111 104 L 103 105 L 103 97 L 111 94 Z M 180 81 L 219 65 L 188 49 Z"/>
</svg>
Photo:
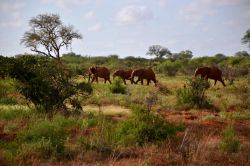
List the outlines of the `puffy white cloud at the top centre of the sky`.
<svg viewBox="0 0 250 166">
<path fill-rule="evenodd" d="M 118 24 L 146 22 L 153 18 L 153 13 L 146 6 L 125 6 L 115 16 Z"/>
</svg>

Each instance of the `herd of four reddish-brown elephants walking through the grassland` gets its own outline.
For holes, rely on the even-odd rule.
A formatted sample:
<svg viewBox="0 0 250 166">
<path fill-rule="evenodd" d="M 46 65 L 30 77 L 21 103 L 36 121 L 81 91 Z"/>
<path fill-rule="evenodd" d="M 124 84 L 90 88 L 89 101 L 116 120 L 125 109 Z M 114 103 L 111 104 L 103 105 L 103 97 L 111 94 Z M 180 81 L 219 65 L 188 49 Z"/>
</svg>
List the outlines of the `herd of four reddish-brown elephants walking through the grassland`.
<svg viewBox="0 0 250 166">
<path fill-rule="evenodd" d="M 110 70 L 106 67 L 97 67 L 92 66 L 87 71 L 88 74 L 88 82 L 90 82 L 90 79 L 92 77 L 91 83 L 96 81 L 98 83 L 98 78 L 103 78 L 104 83 L 107 81 L 111 84 L 110 80 Z M 199 67 L 195 70 L 194 76 L 200 75 L 202 78 L 208 80 L 213 79 L 215 80 L 214 85 L 216 85 L 217 81 L 220 81 L 223 86 L 226 86 L 223 79 L 222 79 L 222 71 L 217 67 Z M 120 77 L 124 84 L 126 85 L 126 80 L 130 80 L 131 84 L 137 84 L 139 81 L 143 85 L 143 80 L 147 80 L 147 85 L 151 81 L 155 83 L 155 86 L 157 85 L 157 80 L 155 77 L 155 72 L 152 70 L 152 68 L 141 68 L 141 69 L 134 69 L 134 70 L 116 70 L 113 73 L 113 79 L 115 77 Z M 137 81 L 135 81 L 135 77 L 137 77 Z"/>
</svg>

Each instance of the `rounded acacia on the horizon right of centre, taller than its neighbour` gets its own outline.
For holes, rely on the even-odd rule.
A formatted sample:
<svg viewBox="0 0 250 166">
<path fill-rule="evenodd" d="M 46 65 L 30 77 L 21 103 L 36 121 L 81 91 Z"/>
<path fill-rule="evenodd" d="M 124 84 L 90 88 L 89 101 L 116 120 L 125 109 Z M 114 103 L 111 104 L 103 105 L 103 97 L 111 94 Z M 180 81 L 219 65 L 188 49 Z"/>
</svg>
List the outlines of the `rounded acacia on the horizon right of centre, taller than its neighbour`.
<svg viewBox="0 0 250 166">
<path fill-rule="evenodd" d="M 171 58 L 172 53 L 165 47 L 161 45 L 152 45 L 148 48 L 146 55 L 155 55 L 157 58 Z"/>
</svg>

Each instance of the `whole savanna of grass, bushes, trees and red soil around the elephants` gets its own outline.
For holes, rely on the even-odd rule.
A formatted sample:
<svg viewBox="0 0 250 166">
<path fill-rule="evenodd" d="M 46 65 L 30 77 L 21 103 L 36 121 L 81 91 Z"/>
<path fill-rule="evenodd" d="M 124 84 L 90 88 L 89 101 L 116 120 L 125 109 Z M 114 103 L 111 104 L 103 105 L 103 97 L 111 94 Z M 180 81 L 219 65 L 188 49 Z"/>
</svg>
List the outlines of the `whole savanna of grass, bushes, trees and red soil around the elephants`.
<svg viewBox="0 0 250 166">
<path fill-rule="evenodd" d="M 247 52 L 193 57 L 153 45 L 147 54 L 154 59 L 60 56 L 60 47 L 81 35 L 57 15 L 31 25 L 47 25 L 47 17 L 65 38 L 39 37 L 54 34 L 46 28 L 26 32 L 22 42 L 39 55 L 0 56 L 1 165 L 250 165 Z M 91 66 L 111 76 L 151 67 L 158 82 L 124 85 L 111 77 L 112 84 L 90 84 Z M 226 87 L 194 78 L 200 66 L 220 68 Z"/>
</svg>

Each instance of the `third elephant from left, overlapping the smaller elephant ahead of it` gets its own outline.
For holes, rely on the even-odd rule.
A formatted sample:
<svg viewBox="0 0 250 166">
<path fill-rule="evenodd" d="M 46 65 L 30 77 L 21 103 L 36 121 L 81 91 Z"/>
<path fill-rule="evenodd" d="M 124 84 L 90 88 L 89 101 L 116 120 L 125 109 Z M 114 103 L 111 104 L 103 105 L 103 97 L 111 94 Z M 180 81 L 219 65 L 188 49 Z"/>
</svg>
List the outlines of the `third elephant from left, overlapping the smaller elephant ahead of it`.
<svg viewBox="0 0 250 166">
<path fill-rule="evenodd" d="M 136 82 L 134 81 L 134 77 L 138 77 L 138 80 Z M 143 85 L 143 79 L 147 80 L 147 85 L 149 85 L 151 80 L 155 83 L 155 86 L 157 84 L 155 73 L 151 68 L 133 70 L 130 79 L 135 84 L 141 81 L 141 84 Z"/>
</svg>

